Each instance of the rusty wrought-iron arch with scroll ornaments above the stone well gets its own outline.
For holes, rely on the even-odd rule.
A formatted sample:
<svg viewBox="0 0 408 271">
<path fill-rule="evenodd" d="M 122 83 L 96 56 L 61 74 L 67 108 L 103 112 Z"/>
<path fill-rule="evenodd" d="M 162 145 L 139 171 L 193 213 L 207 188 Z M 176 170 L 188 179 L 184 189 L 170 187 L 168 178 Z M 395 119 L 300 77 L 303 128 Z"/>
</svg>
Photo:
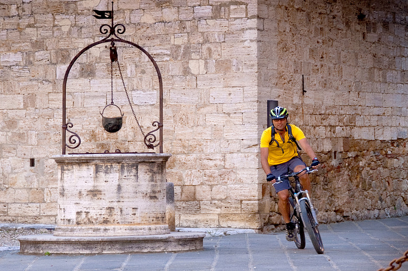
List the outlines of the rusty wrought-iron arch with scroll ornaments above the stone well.
<svg viewBox="0 0 408 271">
<path fill-rule="evenodd" d="M 150 62 L 155 67 L 156 73 L 157 73 L 157 76 L 158 76 L 158 79 L 159 79 L 159 122 L 155 121 L 155 122 L 152 123 L 152 125 L 154 127 L 156 127 L 156 125 L 157 125 L 158 128 L 146 134 L 146 136 L 144 137 L 144 143 L 147 146 L 147 148 L 154 148 L 156 146 L 159 146 L 159 152 L 163 153 L 163 80 L 162 80 L 162 75 L 160 73 L 159 66 L 157 65 L 155 59 L 145 49 L 143 49 L 140 45 L 138 45 L 136 43 L 133 43 L 131 41 L 124 40 L 124 39 L 122 39 L 122 38 L 120 38 L 120 37 L 118 37 L 116 35 L 116 33 L 123 34 L 125 32 L 126 28 L 125 28 L 125 26 L 123 24 L 113 25 L 113 4 L 112 4 L 112 21 L 111 22 L 112 22 L 112 25 L 103 24 L 99 28 L 99 32 L 101 34 L 107 34 L 109 32 L 109 35 L 107 37 L 105 37 L 104 39 L 102 39 L 100 41 L 97 41 L 97 42 L 94 42 L 94 43 L 86 46 L 84 49 L 82 49 L 77 55 L 75 55 L 72 58 L 72 61 L 69 63 L 69 65 L 67 67 L 67 70 L 65 71 L 64 81 L 63 81 L 63 84 L 62 84 L 62 154 L 63 155 L 65 155 L 65 153 L 66 153 L 66 147 L 77 148 L 81 144 L 80 136 L 77 133 L 71 132 L 70 130 L 67 129 L 68 125 L 69 125 L 69 128 L 73 127 L 72 123 L 66 123 L 66 84 L 67 84 L 69 72 L 70 72 L 72 66 L 74 65 L 74 63 L 77 61 L 77 59 L 84 52 L 86 52 L 87 50 L 89 50 L 90 48 L 92 48 L 92 47 L 94 47 L 96 45 L 99 45 L 99 44 L 102 44 L 102 43 L 107 43 L 107 42 L 127 43 L 127 44 L 130 44 L 130 45 L 136 47 L 137 49 L 142 51 L 150 59 Z M 108 28 L 104 28 L 106 26 L 109 28 L 109 30 L 108 30 Z M 111 37 L 112 35 L 115 36 L 116 38 Z M 156 142 L 157 138 L 152 133 L 154 133 L 157 130 L 159 130 L 159 143 L 154 145 L 153 143 Z M 66 131 L 73 134 L 73 135 L 71 135 L 69 137 L 69 143 L 70 144 L 77 143 L 77 140 L 75 140 L 73 137 L 78 138 L 77 145 L 69 146 L 66 143 Z"/>
</svg>

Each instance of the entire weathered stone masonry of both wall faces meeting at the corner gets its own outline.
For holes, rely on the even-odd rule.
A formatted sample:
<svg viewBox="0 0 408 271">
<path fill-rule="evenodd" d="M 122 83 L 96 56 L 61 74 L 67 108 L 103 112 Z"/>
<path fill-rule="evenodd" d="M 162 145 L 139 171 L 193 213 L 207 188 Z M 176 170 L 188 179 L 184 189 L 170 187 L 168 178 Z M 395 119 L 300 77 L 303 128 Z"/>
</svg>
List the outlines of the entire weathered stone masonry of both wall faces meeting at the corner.
<svg viewBox="0 0 408 271">
<path fill-rule="evenodd" d="M 323 162 L 312 178 L 322 222 L 407 214 L 408 9 L 383 2 L 115 1 L 124 38 L 154 56 L 163 75 L 176 226 L 266 230 L 282 222 L 258 155 L 267 100 L 288 108 Z M 1 221 L 55 223 L 57 165 L 49 157 L 61 153 L 62 80 L 72 57 L 103 37 L 106 22 L 92 9 L 109 7 L 0 0 Z M 137 50 L 117 46 L 135 114 L 149 131 L 158 109 L 154 69 Z M 72 152 L 147 152 L 120 79 L 114 98 L 123 128 L 101 127 L 109 71 L 105 46 L 71 71 L 67 117 L 83 140 Z"/>
</svg>

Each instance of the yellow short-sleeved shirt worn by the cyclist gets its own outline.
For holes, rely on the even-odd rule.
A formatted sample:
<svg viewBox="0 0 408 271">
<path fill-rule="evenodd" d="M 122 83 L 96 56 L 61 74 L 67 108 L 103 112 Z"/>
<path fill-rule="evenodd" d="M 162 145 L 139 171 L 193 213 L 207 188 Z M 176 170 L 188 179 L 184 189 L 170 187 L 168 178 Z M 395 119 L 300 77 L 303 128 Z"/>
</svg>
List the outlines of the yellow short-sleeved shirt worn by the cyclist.
<svg viewBox="0 0 408 271">
<path fill-rule="evenodd" d="M 293 124 L 289 125 L 292 127 L 292 135 L 297 141 L 305 138 L 302 130 L 300 130 L 299 127 Z M 296 144 L 295 142 L 289 141 L 288 131 L 285 133 L 285 141 L 282 140 L 278 133 L 275 134 L 275 140 L 279 143 L 279 147 L 276 145 L 275 141 L 272 141 L 272 144 L 269 145 L 269 142 L 271 141 L 271 129 L 272 127 L 266 129 L 261 136 L 261 148 L 269 148 L 269 166 L 288 162 L 293 157 L 297 156 Z M 283 153 L 282 149 L 284 151 Z"/>
</svg>

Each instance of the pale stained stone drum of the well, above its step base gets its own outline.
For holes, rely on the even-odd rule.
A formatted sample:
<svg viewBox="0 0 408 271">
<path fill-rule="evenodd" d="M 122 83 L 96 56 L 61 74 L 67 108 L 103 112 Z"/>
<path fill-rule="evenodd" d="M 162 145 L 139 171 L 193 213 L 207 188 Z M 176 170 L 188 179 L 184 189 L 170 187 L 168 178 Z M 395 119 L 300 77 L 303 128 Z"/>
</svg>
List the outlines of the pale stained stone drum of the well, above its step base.
<svg viewBox="0 0 408 271">
<path fill-rule="evenodd" d="M 54 156 L 55 236 L 166 234 L 168 154 Z"/>
</svg>

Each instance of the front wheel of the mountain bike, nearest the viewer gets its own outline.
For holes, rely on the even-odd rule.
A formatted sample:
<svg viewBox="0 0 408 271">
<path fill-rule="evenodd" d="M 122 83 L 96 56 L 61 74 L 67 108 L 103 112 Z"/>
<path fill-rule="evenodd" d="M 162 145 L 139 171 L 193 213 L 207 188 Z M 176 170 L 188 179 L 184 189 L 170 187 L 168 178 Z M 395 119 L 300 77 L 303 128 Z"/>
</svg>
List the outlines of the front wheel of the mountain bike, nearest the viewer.
<svg viewBox="0 0 408 271">
<path fill-rule="evenodd" d="M 307 200 L 300 200 L 300 214 L 304 227 L 309 233 L 310 240 L 312 241 L 313 247 L 318 254 L 324 253 L 322 238 L 320 237 L 320 232 L 315 225 L 315 220 L 312 216 L 312 210 L 310 208 L 309 202 Z"/>
</svg>

